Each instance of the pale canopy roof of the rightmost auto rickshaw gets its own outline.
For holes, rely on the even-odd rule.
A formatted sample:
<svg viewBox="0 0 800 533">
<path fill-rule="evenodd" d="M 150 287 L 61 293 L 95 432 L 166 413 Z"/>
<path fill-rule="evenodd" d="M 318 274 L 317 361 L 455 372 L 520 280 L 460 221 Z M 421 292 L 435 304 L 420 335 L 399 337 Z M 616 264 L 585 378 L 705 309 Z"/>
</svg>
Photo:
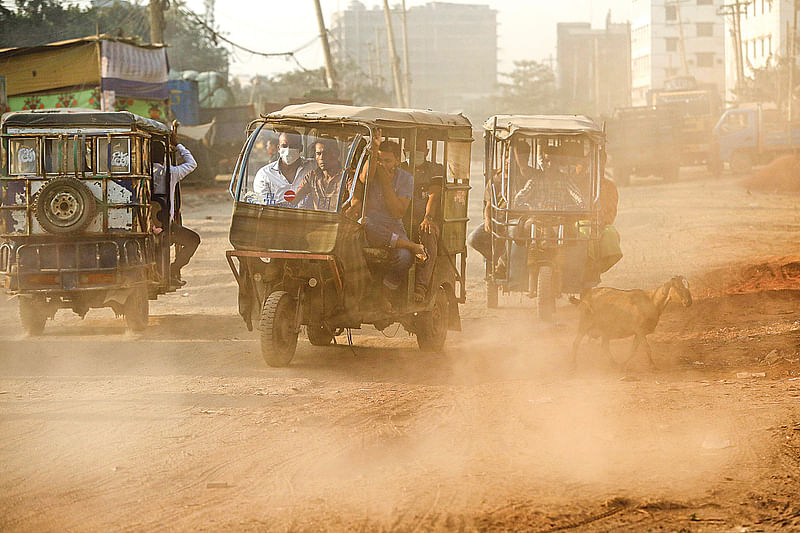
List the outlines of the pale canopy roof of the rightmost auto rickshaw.
<svg viewBox="0 0 800 533">
<path fill-rule="evenodd" d="M 602 126 L 585 115 L 495 115 L 483 123 L 487 132 L 501 140 L 522 135 L 587 135 L 602 142 Z"/>
</svg>

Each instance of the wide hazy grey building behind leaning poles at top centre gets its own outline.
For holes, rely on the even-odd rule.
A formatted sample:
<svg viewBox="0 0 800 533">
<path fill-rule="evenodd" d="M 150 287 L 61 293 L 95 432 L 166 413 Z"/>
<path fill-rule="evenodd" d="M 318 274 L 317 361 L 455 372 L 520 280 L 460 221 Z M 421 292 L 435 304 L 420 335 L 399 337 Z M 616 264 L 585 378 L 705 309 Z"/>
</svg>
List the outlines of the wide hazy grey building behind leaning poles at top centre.
<svg viewBox="0 0 800 533">
<path fill-rule="evenodd" d="M 401 10 L 392 10 L 395 50 L 403 66 Z M 485 104 L 497 87 L 497 12 L 488 5 L 430 2 L 407 10 L 412 107 L 465 111 Z M 354 0 L 334 14 L 331 48 L 375 85 L 394 93 L 386 18 L 381 7 Z M 359 102 L 356 102 L 359 103 Z"/>
</svg>

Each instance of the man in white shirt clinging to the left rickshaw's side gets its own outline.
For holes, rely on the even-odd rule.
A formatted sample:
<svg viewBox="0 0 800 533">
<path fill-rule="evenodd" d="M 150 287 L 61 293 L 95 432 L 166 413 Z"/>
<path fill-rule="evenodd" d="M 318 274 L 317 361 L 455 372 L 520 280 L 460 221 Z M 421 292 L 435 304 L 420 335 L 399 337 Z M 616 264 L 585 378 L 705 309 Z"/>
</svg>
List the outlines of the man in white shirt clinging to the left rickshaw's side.
<svg viewBox="0 0 800 533">
<path fill-rule="evenodd" d="M 180 287 L 186 284 L 181 279 L 181 268 L 189 263 L 189 260 L 200 245 L 200 235 L 181 224 L 180 212 L 176 210 L 175 206 L 175 190 L 178 182 L 197 168 L 197 162 L 188 148 L 178 144 L 178 138 L 175 133 L 170 137 L 170 144 L 183 158 L 183 163 L 170 165 L 170 179 L 169 186 L 167 186 L 166 169 L 163 163 L 159 162 L 164 160 L 164 150 L 160 144 L 153 143 L 153 185 L 156 194 L 169 195 L 170 244 L 175 245 L 175 260 L 170 265 L 170 284 Z"/>
</svg>

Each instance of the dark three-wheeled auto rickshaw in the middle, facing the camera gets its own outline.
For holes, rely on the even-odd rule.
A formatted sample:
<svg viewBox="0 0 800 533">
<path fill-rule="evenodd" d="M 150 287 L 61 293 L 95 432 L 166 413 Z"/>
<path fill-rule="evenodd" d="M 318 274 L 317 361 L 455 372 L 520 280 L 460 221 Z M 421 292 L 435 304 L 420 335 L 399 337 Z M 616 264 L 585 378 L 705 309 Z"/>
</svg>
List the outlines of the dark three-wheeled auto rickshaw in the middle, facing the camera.
<svg viewBox="0 0 800 533">
<path fill-rule="evenodd" d="M 230 183 L 234 200 L 228 263 L 239 285 L 239 313 L 257 329 L 270 366 L 292 360 L 301 326 L 311 344 L 324 346 L 344 330 L 373 324 L 383 330 L 399 322 L 416 335 L 420 349 L 442 349 L 448 330 L 460 329 L 458 304 L 465 301 L 466 224 L 472 125 L 464 116 L 434 111 L 344 105 L 291 105 L 252 122 Z M 264 187 L 264 173 L 278 168 L 268 150 L 282 134 L 302 139 L 299 168 L 319 171 L 318 143 L 335 150 L 338 164 L 324 198 L 300 198 L 297 183 Z M 394 291 L 391 311 L 375 305 L 388 249 L 365 239 L 364 205 L 369 196 L 373 147 L 381 140 L 401 145 L 404 165 L 415 176 L 426 165 L 441 168 L 438 254 L 427 294 L 416 301 L 411 266 Z M 424 151 L 415 149 L 423 146 Z M 300 171 L 298 171 L 300 172 Z M 361 180 L 364 177 L 364 180 Z M 284 179 L 284 178 L 281 178 Z M 403 219 L 409 239 L 419 238 L 412 221 L 412 195 Z"/>
</svg>

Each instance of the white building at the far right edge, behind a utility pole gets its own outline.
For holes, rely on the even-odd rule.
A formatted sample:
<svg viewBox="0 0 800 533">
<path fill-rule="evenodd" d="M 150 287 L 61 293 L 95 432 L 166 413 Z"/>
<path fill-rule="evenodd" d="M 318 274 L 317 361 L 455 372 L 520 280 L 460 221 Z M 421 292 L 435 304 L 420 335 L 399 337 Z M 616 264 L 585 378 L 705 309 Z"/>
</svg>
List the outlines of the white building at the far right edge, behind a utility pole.
<svg viewBox="0 0 800 533">
<path fill-rule="evenodd" d="M 779 56 L 789 57 L 792 4 L 793 0 L 750 0 L 742 8 L 739 23 L 746 78 L 753 75 L 753 69 L 775 64 Z M 734 97 L 738 81 L 732 28 L 733 17 L 725 17 L 725 89 L 729 100 Z M 800 52 L 800 40 L 795 49 Z"/>
</svg>

